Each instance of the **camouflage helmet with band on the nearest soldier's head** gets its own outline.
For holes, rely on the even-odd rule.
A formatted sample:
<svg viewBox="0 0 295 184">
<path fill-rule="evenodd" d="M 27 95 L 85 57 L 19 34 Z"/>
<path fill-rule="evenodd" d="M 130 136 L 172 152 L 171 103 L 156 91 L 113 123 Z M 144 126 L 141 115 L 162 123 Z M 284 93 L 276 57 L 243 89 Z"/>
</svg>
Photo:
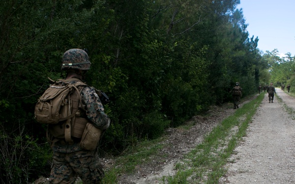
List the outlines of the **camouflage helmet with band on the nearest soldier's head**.
<svg viewBox="0 0 295 184">
<path fill-rule="evenodd" d="M 82 49 L 67 50 L 65 53 L 63 53 L 61 63 L 61 70 L 89 70 L 91 64 L 88 54 Z"/>
</svg>

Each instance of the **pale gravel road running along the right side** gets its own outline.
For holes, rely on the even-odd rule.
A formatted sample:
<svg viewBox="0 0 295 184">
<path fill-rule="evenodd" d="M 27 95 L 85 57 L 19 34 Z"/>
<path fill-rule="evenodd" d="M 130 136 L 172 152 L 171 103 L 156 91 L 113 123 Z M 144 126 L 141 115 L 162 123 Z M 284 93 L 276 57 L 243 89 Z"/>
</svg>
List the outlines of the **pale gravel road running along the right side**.
<svg viewBox="0 0 295 184">
<path fill-rule="evenodd" d="M 279 88 L 276 93 L 283 102 L 268 103 L 265 94 L 219 184 L 295 184 L 295 121 L 283 106 L 294 110 L 295 99 Z"/>
</svg>

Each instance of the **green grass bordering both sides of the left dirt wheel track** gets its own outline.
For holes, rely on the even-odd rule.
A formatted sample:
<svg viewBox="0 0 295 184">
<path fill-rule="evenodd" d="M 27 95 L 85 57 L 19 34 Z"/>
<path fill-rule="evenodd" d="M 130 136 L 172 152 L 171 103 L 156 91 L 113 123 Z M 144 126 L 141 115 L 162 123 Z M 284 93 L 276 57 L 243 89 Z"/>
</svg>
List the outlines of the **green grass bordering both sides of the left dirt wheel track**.
<svg viewBox="0 0 295 184">
<path fill-rule="evenodd" d="M 176 163 L 176 174 L 162 178 L 162 184 L 217 184 L 220 177 L 226 172 L 225 164 L 229 160 L 238 142 L 246 135 L 249 123 L 256 113 L 257 107 L 264 99 L 261 93 L 256 99 L 236 109 L 235 114 L 229 116 L 204 138 L 204 141 Z M 180 127 L 181 128 L 181 127 Z M 190 126 L 183 126 L 183 130 Z M 152 161 L 154 157 L 165 159 L 159 150 L 165 144 L 160 144 L 166 137 L 152 141 L 140 142 L 136 147 L 130 148 L 126 153 L 116 158 L 115 165 L 106 170 L 104 184 L 116 184 L 117 177 L 124 173 L 132 174 L 141 165 Z"/>
</svg>

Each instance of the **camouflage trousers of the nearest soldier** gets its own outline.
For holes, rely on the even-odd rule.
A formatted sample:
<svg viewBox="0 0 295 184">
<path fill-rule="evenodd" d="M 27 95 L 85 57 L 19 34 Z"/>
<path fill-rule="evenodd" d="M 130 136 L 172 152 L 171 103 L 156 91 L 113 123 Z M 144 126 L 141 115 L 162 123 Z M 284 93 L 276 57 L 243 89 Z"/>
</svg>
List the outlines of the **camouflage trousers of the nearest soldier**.
<svg viewBox="0 0 295 184">
<path fill-rule="evenodd" d="M 83 184 L 101 184 L 104 171 L 97 154 L 87 150 L 68 154 L 54 152 L 49 183 L 74 184 L 77 176 Z"/>
</svg>

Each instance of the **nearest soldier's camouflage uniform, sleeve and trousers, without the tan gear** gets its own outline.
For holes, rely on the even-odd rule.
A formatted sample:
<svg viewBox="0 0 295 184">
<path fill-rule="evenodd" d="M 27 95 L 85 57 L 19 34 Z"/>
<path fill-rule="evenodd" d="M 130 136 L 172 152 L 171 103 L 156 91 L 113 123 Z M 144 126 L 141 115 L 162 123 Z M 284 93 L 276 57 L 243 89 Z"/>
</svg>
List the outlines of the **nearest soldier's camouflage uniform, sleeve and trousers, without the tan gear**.
<svg viewBox="0 0 295 184">
<path fill-rule="evenodd" d="M 76 80 L 72 82 L 76 82 Z M 104 113 L 103 105 L 94 89 L 84 87 L 81 98 L 87 109 L 86 116 L 94 127 L 101 130 L 108 128 L 110 120 Z M 66 182 L 72 184 L 76 177 L 80 176 L 84 184 L 99 184 L 104 177 L 104 172 L 97 153 L 83 150 L 79 145 L 80 140 L 73 140 L 72 143 L 66 143 L 63 139 L 60 139 L 52 145 L 54 156 L 50 183 Z"/>
</svg>

